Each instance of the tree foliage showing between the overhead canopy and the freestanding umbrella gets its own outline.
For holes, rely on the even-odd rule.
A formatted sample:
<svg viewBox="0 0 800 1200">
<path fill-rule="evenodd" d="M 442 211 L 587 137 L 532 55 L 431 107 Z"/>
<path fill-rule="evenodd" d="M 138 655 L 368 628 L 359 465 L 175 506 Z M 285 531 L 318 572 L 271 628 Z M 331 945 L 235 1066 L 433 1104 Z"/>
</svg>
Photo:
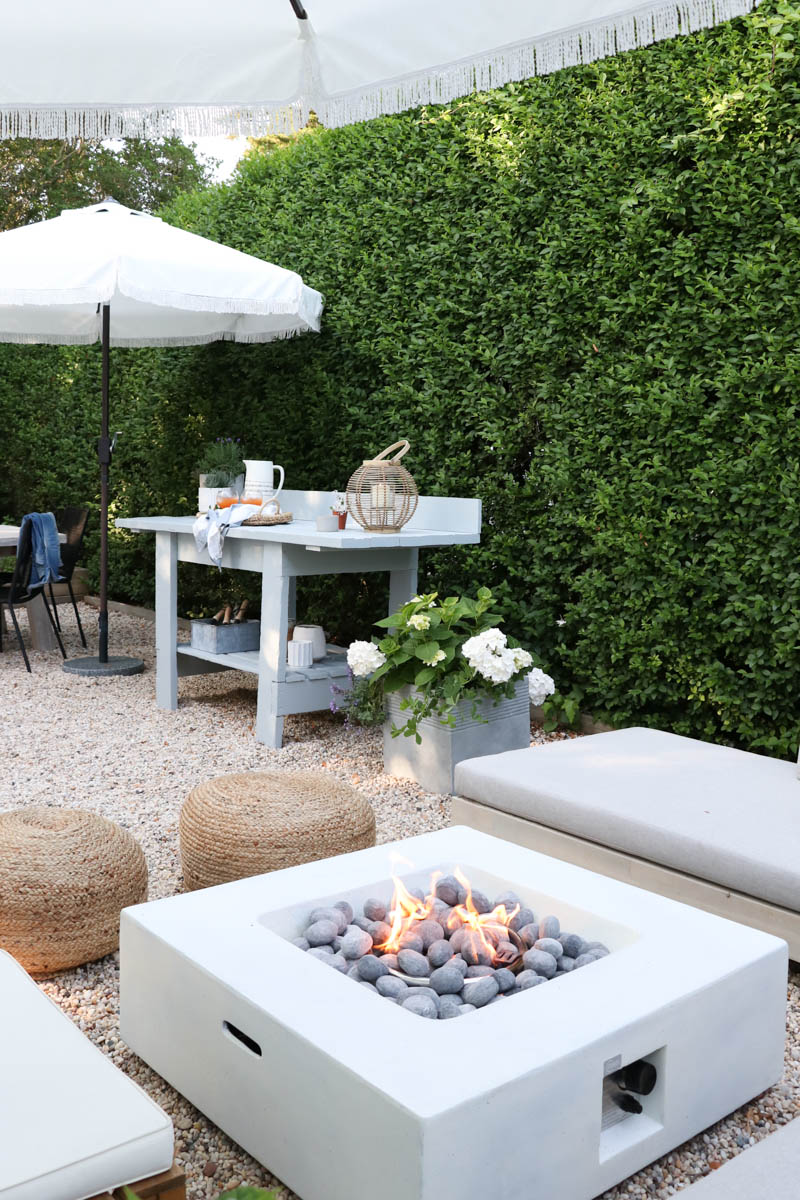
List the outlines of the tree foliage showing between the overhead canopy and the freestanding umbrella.
<svg viewBox="0 0 800 1200">
<path fill-rule="evenodd" d="M 152 212 L 180 191 L 207 185 L 210 166 L 180 138 L 0 142 L 0 229 L 54 217 L 113 196 Z"/>
</svg>

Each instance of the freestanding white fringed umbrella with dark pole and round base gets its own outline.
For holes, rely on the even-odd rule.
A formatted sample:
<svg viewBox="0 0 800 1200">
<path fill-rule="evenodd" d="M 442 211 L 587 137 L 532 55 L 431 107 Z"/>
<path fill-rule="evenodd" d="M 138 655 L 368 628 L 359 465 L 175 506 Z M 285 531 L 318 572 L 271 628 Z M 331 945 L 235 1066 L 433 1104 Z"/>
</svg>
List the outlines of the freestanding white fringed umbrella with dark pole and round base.
<svg viewBox="0 0 800 1200">
<path fill-rule="evenodd" d="M 100 644 L 79 674 L 133 674 L 108 654 L 108 384 L 112 346 L 271 342 L 319 331 L 323 298 L 299 275 L 104 200 L 0 233 L 0 342 L 102 342 Z"/>
</svg>

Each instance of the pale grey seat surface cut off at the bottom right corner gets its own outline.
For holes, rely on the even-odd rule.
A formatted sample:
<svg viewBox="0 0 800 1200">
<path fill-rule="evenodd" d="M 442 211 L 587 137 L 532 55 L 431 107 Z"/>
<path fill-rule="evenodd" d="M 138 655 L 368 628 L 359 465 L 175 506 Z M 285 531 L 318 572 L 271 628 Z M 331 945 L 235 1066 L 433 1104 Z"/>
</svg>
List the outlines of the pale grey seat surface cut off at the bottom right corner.
<svg viewBox="0 0 800 1200">
<path fill-rule="evenodd" d="M 692 1183 L 685 1194 L 686 1200 L 796 1200 L 799 1190 L 800 1121 L 793 1121 Z"/>
</svg>

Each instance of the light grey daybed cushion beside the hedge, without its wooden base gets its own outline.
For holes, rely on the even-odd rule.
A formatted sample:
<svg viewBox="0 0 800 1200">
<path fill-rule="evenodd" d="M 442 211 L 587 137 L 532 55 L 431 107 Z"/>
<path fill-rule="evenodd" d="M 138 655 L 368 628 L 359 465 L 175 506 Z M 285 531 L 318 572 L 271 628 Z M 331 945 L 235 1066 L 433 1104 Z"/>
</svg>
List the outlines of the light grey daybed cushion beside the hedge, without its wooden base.
<svg viewBox="0 0 800 1200">
<path fill-rule="evenodd" d="M 800 911 L 793 762 L 630 728 L 468 758 L 456 793 Z"/>
</svg>

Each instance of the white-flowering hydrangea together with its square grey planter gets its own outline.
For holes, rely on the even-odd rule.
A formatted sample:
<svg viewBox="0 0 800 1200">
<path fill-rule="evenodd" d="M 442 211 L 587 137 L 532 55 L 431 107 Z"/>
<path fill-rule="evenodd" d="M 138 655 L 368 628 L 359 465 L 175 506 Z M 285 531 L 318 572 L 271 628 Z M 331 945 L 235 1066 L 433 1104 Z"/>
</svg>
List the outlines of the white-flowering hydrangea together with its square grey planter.
<svg viewBox="0 0 800 1200">
<path fill-rule="evenodd" d="M 357 721 L 359 707 L 374 713 L 383 700 L 389 774 L 452 792 L 462 758 L 530 744 L 531 692 L 541 703 L 554 685 L 501 622 L 488 588 L 441 601 L 433 592 L 377 622 L 384 637 L 350 644 L 348 665 L 368 686 L 348 718 Z"/>
</svg>

